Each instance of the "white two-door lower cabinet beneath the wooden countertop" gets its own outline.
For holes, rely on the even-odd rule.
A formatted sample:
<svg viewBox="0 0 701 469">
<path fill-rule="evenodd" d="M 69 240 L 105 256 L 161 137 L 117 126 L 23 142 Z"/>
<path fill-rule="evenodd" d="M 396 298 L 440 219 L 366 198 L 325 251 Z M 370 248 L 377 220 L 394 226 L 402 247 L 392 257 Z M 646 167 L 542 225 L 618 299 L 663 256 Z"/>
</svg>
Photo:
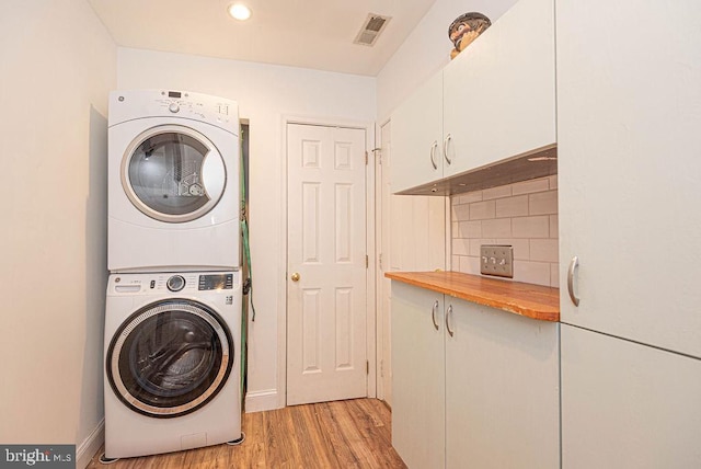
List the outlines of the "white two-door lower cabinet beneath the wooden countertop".
<svg viewBox="0 0 701 469">
<path fill-rule="evenodd" d="M 392 282 L 392 444 L 410 468 L 560 466 L 559 324 Z"/>
</svg>

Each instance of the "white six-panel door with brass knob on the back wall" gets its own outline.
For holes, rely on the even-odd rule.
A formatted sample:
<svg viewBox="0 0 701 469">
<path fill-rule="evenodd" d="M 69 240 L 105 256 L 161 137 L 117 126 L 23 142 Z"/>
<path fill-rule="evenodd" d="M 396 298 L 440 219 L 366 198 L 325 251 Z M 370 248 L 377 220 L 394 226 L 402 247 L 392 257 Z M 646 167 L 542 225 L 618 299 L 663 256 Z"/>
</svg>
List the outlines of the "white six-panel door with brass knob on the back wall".
<svg viewBox="0 0 701 469">
<path fill-rule="evenodd" d="M 367 396 L 365 140 L 287 126 L 288 405 Z"/>
</svg>

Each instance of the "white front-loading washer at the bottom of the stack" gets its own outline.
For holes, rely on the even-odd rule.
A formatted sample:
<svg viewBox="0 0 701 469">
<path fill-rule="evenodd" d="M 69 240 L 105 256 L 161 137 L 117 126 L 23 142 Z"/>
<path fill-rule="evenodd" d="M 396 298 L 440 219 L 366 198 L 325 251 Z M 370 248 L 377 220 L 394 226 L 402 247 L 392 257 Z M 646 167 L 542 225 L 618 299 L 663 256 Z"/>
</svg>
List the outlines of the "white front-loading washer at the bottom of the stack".
<svg viewBox="0 0 701 469">
<path fill-rule="evenodd" d="M 112 274 L 105 316 L 105 457 L 239 441 L 241 276 Z"/>
</svg>

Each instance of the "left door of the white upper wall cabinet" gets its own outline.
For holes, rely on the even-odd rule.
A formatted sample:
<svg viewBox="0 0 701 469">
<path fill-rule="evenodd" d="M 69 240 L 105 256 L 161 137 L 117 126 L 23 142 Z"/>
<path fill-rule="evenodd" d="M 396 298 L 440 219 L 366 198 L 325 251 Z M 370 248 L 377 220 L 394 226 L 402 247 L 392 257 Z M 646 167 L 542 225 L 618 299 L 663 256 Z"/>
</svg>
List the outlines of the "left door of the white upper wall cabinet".
<svg viewBox="0 0 701 469">
<path fill-rule="evenodd" d="M 420 87 L 392 114 L 392 192 L 443 178 L 443 75 Z"/>
</svg>

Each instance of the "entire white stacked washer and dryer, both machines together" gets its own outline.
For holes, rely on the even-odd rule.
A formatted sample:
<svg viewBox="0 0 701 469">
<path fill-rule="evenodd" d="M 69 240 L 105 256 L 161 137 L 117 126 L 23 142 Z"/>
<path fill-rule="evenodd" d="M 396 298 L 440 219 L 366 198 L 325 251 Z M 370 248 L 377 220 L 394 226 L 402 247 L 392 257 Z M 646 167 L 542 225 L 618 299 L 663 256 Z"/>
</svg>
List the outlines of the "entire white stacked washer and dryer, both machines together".
<svg viewBox="0 0 701 469">
<path fill-rule="evenodd" d="M 116 91 L 103 461 L 240 443 L 238 104 Z"/>
</svg>

